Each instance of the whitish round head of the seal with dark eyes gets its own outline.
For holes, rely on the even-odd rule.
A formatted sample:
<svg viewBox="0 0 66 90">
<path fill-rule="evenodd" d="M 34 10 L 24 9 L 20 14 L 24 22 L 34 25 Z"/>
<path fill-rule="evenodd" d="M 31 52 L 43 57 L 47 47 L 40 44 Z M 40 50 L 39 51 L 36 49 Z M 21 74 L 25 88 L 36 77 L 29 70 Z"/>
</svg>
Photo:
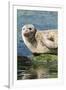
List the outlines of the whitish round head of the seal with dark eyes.
<svg viewBox="0 0 66 90">
<path fill-rule="evenodd" d="M 36 33 L 36 29 L 32 24 L 26 24 L 22 27 L 22 36 L 26 38 L 31 38 L 35 36 L 35 33 Z"/>
</svg>

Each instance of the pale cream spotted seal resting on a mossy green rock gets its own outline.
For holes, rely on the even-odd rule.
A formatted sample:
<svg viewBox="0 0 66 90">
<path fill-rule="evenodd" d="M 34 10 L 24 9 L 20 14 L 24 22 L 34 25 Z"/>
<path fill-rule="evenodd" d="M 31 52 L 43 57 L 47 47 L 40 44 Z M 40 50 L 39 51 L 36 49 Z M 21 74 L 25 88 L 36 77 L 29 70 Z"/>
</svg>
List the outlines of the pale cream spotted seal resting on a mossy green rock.
<svg viewBox="0 0 66 90">
<path fill-rule="evenodd" d="M 34 25 L 26 24 L 22 27 L 22 39 L 32 53 L 57 54 L 57 30 L 37 30 Z"/>
</svg>

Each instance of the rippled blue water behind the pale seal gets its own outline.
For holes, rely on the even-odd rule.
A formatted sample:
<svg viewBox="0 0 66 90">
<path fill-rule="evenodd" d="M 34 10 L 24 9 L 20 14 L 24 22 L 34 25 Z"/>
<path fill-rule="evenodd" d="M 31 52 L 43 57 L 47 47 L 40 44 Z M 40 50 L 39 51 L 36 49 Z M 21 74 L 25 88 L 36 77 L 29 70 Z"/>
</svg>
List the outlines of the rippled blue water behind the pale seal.
<svg viewBox="0 0 66 90">
<path fill-rule="evenodd" d="M 17 55 L 31 55 L 29 49 L 25 46 L 21 31 L 25 24 L 33 24 L 37 29 L 57 29 L 58 28 L 58 12 L 56 11 L 30 11 L 17 10 Z"/>
</svg>

